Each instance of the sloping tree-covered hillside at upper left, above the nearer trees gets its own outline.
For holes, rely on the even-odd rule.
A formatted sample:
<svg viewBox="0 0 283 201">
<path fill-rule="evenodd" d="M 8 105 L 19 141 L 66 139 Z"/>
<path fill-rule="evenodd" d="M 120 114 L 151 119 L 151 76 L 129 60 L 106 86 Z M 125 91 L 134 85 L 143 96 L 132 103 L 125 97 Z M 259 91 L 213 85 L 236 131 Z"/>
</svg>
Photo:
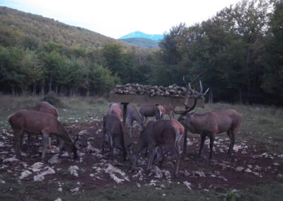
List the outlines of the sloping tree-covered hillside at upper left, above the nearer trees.
<svg viewBox="0 0 283 201">
<path fill-rule="evenodd" d="M 67 46 L 101 47 L 117 42 L 84 28 L 66 25 L 51 18 L 0 6 L 0 42 L 8 39 L 35 38 L 40 42 L 58 42 Z M 127 46 L 127 44 L 124 44 Z"/>
</svg>

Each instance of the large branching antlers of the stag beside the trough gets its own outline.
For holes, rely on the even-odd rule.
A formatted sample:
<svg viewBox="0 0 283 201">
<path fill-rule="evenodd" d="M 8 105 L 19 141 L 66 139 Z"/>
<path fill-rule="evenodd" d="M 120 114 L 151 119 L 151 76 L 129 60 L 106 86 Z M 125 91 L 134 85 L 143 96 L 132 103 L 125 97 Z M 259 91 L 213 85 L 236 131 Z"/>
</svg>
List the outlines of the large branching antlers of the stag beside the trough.
<svg viewBox="0 0 283 201">
<path fill-rule="evenodd" d="M 193 94 L 195 89 L 192 89 L 192 87 L 190 86 L 190 82 L 188 84 L 186 83 L 185 76 L 183 76 L 183 81 L 185 82 L 185 84 L 187 86 L 186 93 L 185 93 L 185 96 L 183 96 L 183 98 L 187 102 L 189 92 L 191 91 L 192 94 Z M 209 88 L 207 88 L 207 91 L 209 91 Z M 200 81 L 200 93 L 197 94 L 197 96 L 193 97 L 194 98 L 194 104 L 192 105 L 192 107 L 189 107 L 184 101 L 182 101 L 183 105 L 185 105 L 185 110 L 180 110 L 180 111 L 173 110 L 174 113 L 175 114 L 186 114 L 186 113 L 192 111 L 193 109 L 195 109 L 195 106 L 197 105 L 197 99 L 202 97 L 202 96 L 205 96 L 207 94 L 207 91 L 202 93 L 202 81 Z"/>
</svg>

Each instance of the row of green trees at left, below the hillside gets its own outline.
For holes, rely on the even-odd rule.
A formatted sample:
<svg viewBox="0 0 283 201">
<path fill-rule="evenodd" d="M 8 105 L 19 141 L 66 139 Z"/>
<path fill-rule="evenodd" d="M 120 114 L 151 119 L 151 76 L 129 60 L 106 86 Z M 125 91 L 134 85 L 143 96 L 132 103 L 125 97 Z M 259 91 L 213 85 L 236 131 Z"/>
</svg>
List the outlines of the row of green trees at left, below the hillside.
<svg viewBox="0 0 283 201">
<path fill-rule="evenodd" d="M 146 54 L 125 52 L 120 44 L 83 49 L 33 42 L 19 47 L 0 46 L 2 93 L 101 96 L 115 84 L 146 83 L 142 76 L 142 71 L 146 71 L 143 65 Z"/>
</svg>

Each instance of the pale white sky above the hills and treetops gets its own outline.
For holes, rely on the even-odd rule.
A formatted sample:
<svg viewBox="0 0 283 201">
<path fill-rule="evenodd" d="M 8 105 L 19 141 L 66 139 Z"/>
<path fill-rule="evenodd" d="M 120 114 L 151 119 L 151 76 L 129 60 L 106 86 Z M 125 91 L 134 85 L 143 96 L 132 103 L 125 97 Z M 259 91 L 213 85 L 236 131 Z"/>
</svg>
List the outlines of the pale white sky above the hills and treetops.
<svg viewBox="0 0 283 201">
<path fill-rule="evenodd" d="M 192 25 L 241 0 L 0 0 L 0 6 L 75 25 L 110 38 L 136 30 L 163 34 L 173 26 Z"/>
</svg>

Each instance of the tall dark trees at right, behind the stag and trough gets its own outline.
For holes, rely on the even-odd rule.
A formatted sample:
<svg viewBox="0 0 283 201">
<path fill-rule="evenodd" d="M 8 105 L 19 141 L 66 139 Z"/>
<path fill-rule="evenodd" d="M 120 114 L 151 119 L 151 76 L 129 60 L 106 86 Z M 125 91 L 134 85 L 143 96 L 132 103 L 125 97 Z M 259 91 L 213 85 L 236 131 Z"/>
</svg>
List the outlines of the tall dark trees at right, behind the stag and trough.
<svg viewBox="0 0 283 201">
<path fill-rule="evenodd" d="M 283 1 L 241 1 L 202 23 L 181 23 L 160 47 L 158 84 L 182 84 L 184 74 L 209 87 L 209 102 L 282 105 Z"/>
</svg>

